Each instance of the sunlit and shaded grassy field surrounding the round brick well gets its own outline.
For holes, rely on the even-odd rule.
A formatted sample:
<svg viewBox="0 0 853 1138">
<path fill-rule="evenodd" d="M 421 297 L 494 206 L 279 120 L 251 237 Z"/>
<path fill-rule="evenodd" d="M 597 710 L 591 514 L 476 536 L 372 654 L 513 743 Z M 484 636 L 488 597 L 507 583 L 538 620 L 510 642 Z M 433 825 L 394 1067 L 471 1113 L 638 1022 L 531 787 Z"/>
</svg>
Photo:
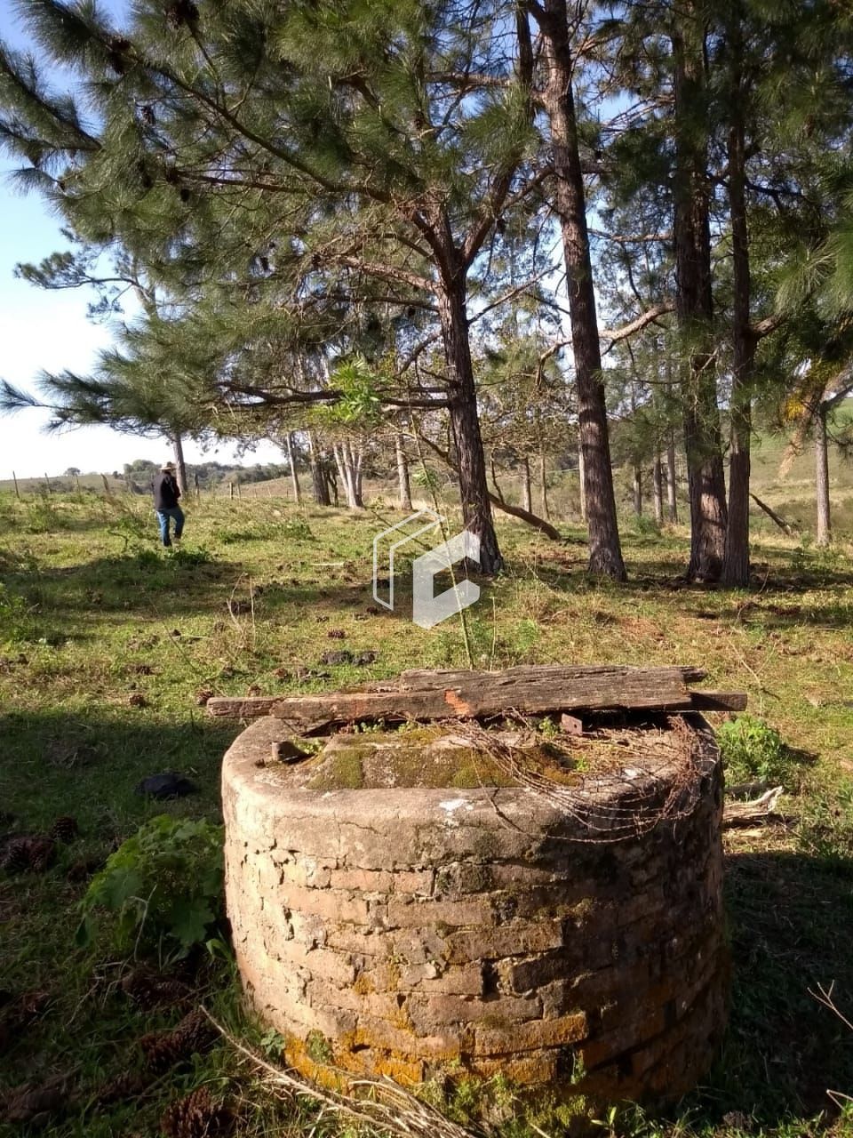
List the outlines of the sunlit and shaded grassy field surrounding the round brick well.
<svg viewBox="0 0 853 1138">
<path fill-rule="evenodd" d="M 81 831 L 47 872 L 0 871 L 0 1136 L 155 1135 L 169 1102 L 198 1086 L 237 1104 L 241 1135 L 340 1132 L 316 1105 L 276 1102 L 222 1041 L 144 1089 L 114 1085 L 105 1100 L 109 1080 L 143 1070 L 140 1038 L 187 1007 L 134 1003 L 122 988 L 131 954 L 103 938 L 76 946 L 85 874 L 155 815 L 218 819 L 220 762 L 240 727 L 207 718 L 200 702 L 212 692 L 557 661 L 701 665 L 709 686 L 747 691 L 752 714 L 786 744 L 772 774 L 785 780 L 789 822 L 727 836 L 734 986 L 719 1062 L 664 1116 L 626 1112 L 601 1132 L 853 1135 L 853 1113 L 827 1096 L 853 1094 L 853 1032 L 810 995 L 834 983 L 853 1019 L 848 547 L 818 554 L 764 529 L 754 587 L 705 591 L 678 579 L 685 531 L 628 523 L 630 580 L 612 586 L 586 576 L 579 529 L 563 527 L 557 545 L 500 520 L 507 568 L 483 583 L 466 645 L 457 620 L 424 632 L 373 607 L 371 543 L 398 514 L 248 496 L 202 500 L 188 513 L 183 547 L 166 552 L 144 500 L 0 497 L 0 834 L 44 832 L 61 815 Z M 375 659 L 323 661 L 340 650 Z M 134 793 L 164 770 L 199 793 L 165 805 Z M 227 954 L 184 979 L 235 1033 L 274 1054 L 243 1016 Z M 33 1014 L 3 1036 L 22 996 L 33 997 Z M 10 1088 L 51 1080 L 60 1089 L 42 1116 L 10 1121 Z M 535 1131 L 517 1120 L 506 1133 Z"/>
</svg>

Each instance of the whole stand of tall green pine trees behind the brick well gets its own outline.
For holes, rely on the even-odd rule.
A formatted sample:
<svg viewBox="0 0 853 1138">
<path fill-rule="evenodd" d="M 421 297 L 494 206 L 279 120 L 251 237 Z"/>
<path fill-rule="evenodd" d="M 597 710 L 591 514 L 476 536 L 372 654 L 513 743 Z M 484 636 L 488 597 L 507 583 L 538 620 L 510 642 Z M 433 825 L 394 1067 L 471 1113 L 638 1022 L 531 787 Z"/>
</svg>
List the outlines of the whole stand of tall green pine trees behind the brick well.
<svg viewBox="0 0 853 1138">
<path fill-rule="evenodd" d="M 750 579 L 754 424 L 827 452 L 853 390 L 853 9 L 684 0 L 40 0 L 0 46 L 0 142 L 69 248 L 22 277 L 140 315 L 91 374 L 6 384 L 57 427 L 271 438 L 321 504 L 372 469 L 626 577 L 614 448 L 685 576 Z M 51 72 L 51 64 L 58 65 Z M 43 71 L 43 74 L 42 74 Z M 55 88 L 48 79 L 63 76 Z M 298 459 L 296 457 L 298 455 Z M 562 456 L 562 457 L 561 457 Z M 504 492 L 521 481 L 521 504 Z"/>
</svg>

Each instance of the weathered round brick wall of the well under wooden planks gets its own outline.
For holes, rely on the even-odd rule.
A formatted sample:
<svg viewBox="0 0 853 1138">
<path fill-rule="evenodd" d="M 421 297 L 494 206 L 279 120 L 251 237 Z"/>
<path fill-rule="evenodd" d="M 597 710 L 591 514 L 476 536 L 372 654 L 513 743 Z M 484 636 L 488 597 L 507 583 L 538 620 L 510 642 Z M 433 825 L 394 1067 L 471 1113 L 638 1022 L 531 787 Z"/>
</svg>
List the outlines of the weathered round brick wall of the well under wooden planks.
<svg viewBox="0 0 853 1138">
<path fill-rule="evenodd" d="M 586 780 L 595 831 L 588 809 L 524 786 L 459 789 L 458 766 L 452 787 L 395 785 L 413 747 L 441 770 L 416 732 L 405 761 L 406 736 L 388 734 L 288 764 L 271 760 L 285 723 L 245 731 L 223 769 L 227 910 L 288 1059 L 400 1082 L 500 1072 L 602 1099 L 695 1086 L 722 1032 L 727 955 L 719 756 L 702 719 L 685 723 L 676 767 L 651 775 L 635 754 Z M 663 818 L 607 841 L 637 780 Z"/>
</svg>

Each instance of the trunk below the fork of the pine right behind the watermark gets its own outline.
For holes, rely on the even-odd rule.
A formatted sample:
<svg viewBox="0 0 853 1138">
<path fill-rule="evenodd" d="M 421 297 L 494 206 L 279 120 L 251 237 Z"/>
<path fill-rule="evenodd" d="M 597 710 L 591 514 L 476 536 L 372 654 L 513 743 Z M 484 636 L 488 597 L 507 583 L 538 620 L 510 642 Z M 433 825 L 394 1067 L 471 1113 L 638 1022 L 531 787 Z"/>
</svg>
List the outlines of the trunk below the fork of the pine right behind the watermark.
<svg viewBox="0 0 853 1138">
<path fill-rule="evenodd" d="M 486 478 L 465 310 L 465 273 L 462 265 L 448 267 L 452 271 L 442 275 L 437 299 L 449 380 L 450 424 L 459 470 L 462 518 L 465 529 L 480 538 L 481 570 L 495 574 L 504 561 L 498 549 Z"/>
</svg>

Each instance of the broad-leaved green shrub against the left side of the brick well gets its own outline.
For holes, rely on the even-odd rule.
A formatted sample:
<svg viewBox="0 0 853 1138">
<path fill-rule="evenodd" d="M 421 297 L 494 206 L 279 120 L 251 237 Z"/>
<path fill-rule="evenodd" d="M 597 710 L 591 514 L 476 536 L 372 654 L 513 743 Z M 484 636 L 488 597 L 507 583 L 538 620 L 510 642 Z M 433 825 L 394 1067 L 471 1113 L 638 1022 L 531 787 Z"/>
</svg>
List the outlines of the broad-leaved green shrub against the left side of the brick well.
<svg viewBox="0 0 853 1138">
<path fill-rule="evenodd" d="M 91 943 L 96 913 L 113 914 L 116 948 L 173 959 L 212 947 L 224 916 L 222 826 L 159 815 L 110 855 L 81 902 L 77 943 Z"/>
</svg>

